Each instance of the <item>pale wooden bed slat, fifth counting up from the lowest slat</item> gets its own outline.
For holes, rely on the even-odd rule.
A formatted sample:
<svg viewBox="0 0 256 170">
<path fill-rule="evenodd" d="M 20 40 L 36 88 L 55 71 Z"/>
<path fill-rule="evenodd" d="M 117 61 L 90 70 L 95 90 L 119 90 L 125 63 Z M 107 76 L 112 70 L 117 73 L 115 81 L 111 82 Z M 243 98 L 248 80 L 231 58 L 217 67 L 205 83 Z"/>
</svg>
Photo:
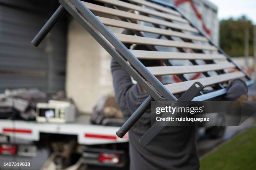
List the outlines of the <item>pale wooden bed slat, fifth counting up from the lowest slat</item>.
<svg viewBox="0 0 256 170">
<path fill-rule="evenodd" d="M 103 18 L 98 17 L 97 18 L 107 26 L 117 27 L 117 28 L 124 28 L 128 30 L 136 30 L 136 31 L 143 31 L 143 32 L 151 32 L 155 34 L 160 35 L 168 35 L 168 36 L 174 36 L 174 37 L 180 37 L 180 38 L 186 38 L 189 40 L 197 40 L 202 42 L 208 42 L 207 38 L 202 36 L 196 36 L 196 35 L 189 35 L 186 33 L 178 32 L 178 31 L 172 31 L 172 30 L 166 30 L 161 28 L 155 28 L 155 27 L 149 27 L 146 25 L 139 25 L 135 23 L 128 23 L 120 20 L 114 20 L 110 18 Z"/>
</svg>

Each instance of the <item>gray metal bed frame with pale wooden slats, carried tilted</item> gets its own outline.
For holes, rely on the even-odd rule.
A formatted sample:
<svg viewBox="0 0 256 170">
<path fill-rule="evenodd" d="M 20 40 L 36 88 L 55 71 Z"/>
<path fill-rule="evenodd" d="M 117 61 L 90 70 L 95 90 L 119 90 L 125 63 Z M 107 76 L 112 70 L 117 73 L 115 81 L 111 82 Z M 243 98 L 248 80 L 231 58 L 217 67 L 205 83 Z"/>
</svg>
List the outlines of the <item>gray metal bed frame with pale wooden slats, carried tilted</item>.
<svg viewBox="0 0 256 170">
<path fill-rule="evenodd" d="M 148 92 L 149 96 L 146 100 L 118 130 L 117 135 L 120 138 L 136 123 L 152 100 L 167 100 L 169 104 L 174 105 L 182 100 L 188 101 L 187 104 L 189 104 L 191 100 L 209 100 L 224 95 L 227 88 L 223 83 L 235 78 L 244 78 L 247 85 L 253 84 L 251 76 L 193 25 L 174 5 L 161 0 L 96 1 L 105 3 L 107 7 L 80 0 L 59 0 L 61 5 L 32 40 L 32 44 L 38 46 L 67 10 Z M 136 12 L 130 13 L 125 11 L 127 9 L 133 9 Z M 111 18 L 118 17 L 121 21 L 96 17 L 92 12 L 96 12 L 97 15 L 98 13 L 106 14 L 107 17 L 111 15 Z M 133 20 L 139 22 L 131 23 Z M 152 26 L 146 26 L 148 23 Z M 106 26 L 119 28 L 119 30 L 120 28 L 129 29 L 134 35 L 113 34 Z M 154 33 L 158 37 L 152 38 L 149 33 Z M 200 41 L 200 43 L 195 41 Z M 148 50 L 130 50 L 123 43 L 144 45 Z M 174 48 L 156 46 L 174 47 L 179 52 L 163 51 L 174 50 Z M 138 59 L 162 60 L 164 65 L 145 67 Z M 172 60 L 188 60 L 192 65 L 173 66 Z M 202 60 L 202 62 L 197 60 Z M 233 72 L 227 72 L 228 70 L 233 70 Z M 189 80 L 184 75 L 196 72 L 201 72 L 204 77 Z M 177 75 L 182 82 L 163 85 L 156 75 Z M 211 86 L 212 90 L 205 92 L 203 90 L 205 86 Z M 163 128 L 155 123 L 142 136 L 140 143 L 145 147 Z"/>
</svg>

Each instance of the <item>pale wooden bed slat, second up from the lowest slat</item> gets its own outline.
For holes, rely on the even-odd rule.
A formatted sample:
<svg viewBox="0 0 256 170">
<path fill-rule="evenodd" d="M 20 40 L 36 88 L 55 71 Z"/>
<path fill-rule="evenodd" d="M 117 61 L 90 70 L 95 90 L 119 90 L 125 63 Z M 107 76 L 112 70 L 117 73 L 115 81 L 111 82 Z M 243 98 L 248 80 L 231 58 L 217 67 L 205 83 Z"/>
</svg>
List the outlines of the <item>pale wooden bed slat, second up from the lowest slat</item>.
<svg viewBox="0 0 256 170">
<path fill-rule="evenodd" d="M 163 66 L 163 67 L 147 67 L 153 75 L 179 75 L 196 72 L 207 72 L 214 70 L 223 70 L 234 68 L 231 62 L 225 64 L 205 64 L 205 65 L 184 65 L 184 66 Z"/>
</svg>

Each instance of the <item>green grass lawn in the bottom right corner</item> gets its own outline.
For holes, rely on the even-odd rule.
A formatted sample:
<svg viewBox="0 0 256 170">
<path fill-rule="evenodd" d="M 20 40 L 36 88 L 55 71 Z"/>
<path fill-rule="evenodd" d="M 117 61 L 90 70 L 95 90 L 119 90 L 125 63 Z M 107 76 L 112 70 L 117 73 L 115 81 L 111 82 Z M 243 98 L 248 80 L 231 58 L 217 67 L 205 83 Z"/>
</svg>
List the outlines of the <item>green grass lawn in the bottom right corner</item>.
<svg viewBox="0 0 256 170">
<path fill-rule="evenodd" d="M 256 170 L 256 127 L 235 136 L 203 158 L 200 170 Z"/>
</svg>

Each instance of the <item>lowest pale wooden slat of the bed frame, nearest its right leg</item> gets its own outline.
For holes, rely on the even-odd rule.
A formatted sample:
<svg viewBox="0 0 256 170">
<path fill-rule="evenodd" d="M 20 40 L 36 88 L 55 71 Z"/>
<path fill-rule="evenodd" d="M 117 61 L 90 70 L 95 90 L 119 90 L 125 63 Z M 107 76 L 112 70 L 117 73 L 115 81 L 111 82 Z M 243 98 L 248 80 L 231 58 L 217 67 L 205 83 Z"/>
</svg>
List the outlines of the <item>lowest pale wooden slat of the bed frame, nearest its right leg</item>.
<svg viewBox="0 0 256 170">
<path fill-rule="evenodd" d="M 181 92 L 184 92 L 189 89 L 195 82 L 201 82 L 202 85 L 208 86 L 208 85 L 214 85 L 220 82 L 226 82 L 228 80 L 232 80 L 235 78 L 241 78 L 245 77 L 243 72 L 232 72 L 232 73 L 227 73 L 227 74 L 221 74 L 221 75 L 215 75 L 211 77 L 205 77 L 201 79 L 196 79 L 196 80 L 189 80 L 185 82 L 178 82 L 178 83 L 173 83 L 169 85 L 164 85 L 172 94 L 178 94 Z"/>
</svg>

